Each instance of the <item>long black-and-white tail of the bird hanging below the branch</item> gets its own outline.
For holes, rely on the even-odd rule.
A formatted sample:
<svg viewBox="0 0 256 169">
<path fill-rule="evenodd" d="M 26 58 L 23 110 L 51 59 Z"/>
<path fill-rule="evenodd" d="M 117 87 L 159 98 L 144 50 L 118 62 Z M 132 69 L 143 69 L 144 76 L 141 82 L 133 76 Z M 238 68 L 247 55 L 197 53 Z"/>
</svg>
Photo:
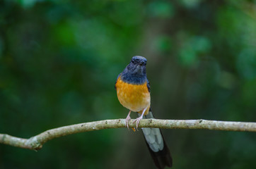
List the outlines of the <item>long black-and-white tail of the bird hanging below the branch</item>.
<svg viewBox="0 0 256 169">
<path fill-rule="evenodd" d="M 138 113 L 138 115 L 141 114 Z M 145 115 L 144 118 L 153 118 L 151 108 L 149 109 L 149 114 Z M 159 128 L 141 129 L 156 167 L 159 169 L 165 168 L 165 166 L 171 167 L 173 159 L 170 156 L 168 146 L 165 144 L 161 130 Z"/>
</svg>

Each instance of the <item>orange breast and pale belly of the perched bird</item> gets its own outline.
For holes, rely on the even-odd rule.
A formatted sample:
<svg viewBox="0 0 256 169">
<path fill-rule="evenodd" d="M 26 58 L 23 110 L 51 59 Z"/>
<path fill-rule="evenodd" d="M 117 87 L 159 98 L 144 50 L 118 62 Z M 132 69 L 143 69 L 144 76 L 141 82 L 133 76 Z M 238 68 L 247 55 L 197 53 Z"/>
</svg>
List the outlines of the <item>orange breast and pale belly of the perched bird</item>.
<svg viewBox="0 0 256 169">
<path fill-rule="evenodd" d="M 147 82 L 144 84 L 129 84 L 123 82 L 120 77 L 118 77 L 115 87 L 120 104 L 131 111 L 139 113 L 141 113 L 144 108 L 147 108 L 145 112 L 145 115 L 147 115 L 149 113 L 151 98 L 146 84 Z"/>
</svg>

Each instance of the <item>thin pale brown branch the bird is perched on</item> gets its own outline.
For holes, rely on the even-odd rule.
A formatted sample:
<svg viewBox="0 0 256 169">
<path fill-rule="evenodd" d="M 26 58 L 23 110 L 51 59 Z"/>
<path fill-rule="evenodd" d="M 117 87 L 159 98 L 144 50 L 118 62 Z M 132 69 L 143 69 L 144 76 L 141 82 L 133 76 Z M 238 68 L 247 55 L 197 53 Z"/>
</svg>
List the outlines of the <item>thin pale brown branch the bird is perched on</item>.
<svg viewBox="0 0 256 169">
<path fill-rule="evenodd" d="M 132 120 L 133 121 L 133 120 Z M 136 124 L 129 122 L 130 127 L 136 127 Z M 67 125 L 47 130 L 37 134 L 30 139 L 13 137 L 8 134 L 0 134 L 0 143 L 11 146 L 18 146 L 23 149 L 38 150 L 47 141 L 78 132 L 90 132 L 93 130 L 103 130 L 109 128 L 125 127 L 124 119 L 117 120 L 100 120 L 89 123 L 80 123 L 76 125 Z M 142 119 L 139 127 L 158 127 L 164 129 L 207 129 L 207 130 L 226 130 L 240 132 L 256 132 L 256 123 L 252 122 L 228 122 L 216 120 L 158 120 Z"/>
</svg>

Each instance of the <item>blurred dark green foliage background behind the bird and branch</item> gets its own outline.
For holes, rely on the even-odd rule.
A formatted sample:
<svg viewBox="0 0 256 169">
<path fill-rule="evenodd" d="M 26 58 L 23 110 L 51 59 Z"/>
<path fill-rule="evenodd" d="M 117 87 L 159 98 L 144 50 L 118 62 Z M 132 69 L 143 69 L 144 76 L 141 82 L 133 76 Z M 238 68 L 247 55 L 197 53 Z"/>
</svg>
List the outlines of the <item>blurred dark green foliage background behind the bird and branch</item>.
<svg viewBox="0 0 256 169">
<path fill-rule="evenodd" d="M 156 118 L 256 121 L 256 1 L 0 1 L 0 133 L 126 118 L 117 75 L 148 59 Z M 134 114 L 133 117 L 136 117 Z M 256 168 L 256 134 L 163 130 L 173 168 Z M 100 130 L 40 151 L 0 144 L 0 168 L 154 168 L 140 132 Z"/>
</svg>

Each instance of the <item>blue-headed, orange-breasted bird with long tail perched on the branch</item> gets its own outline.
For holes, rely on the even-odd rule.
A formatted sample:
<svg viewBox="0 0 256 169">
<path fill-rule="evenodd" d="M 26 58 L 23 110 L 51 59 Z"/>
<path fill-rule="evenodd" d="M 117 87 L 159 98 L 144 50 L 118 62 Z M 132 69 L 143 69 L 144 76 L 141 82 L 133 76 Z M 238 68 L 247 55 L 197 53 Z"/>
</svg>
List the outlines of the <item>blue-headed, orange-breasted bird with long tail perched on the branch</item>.
<svg viewBox="0 0 256 169">
<path fill-rule="evenodd" d="M 136 123 L 136 130 L 138 130 L 141 119 L 154 118 L 151 110 L 151 89 L 146 77 L 146 62 L 147 60 L 143 56 L 133 56 L 130 63 L 117 76 L 115 82 L 117 99 L 122 106 L 129 109 L 125 120 L 125 126 L 128 129 L 131 112 L 138 114 L 138 118 L 133 121 Z M 173 159 L 161 130 L 150 127 L 144 127 L 141 130 L 156 168 L 172 167 Z"/>
</svg>

